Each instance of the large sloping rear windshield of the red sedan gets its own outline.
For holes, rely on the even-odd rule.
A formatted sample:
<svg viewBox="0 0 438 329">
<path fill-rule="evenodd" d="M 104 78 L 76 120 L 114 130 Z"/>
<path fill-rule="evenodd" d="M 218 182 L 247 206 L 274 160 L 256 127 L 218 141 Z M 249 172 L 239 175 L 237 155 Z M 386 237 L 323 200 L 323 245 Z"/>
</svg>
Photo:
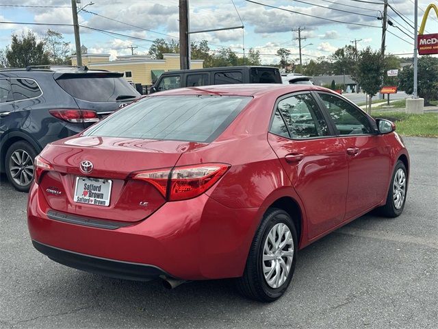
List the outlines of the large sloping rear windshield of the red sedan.
<svg viewBox="0 0 438 329">
<path fill-rule="evenodd" d="M 251 99 L 216 95 L 146 97 L 97 123 L 86 136 L 210 143 Z"/>
</svg>

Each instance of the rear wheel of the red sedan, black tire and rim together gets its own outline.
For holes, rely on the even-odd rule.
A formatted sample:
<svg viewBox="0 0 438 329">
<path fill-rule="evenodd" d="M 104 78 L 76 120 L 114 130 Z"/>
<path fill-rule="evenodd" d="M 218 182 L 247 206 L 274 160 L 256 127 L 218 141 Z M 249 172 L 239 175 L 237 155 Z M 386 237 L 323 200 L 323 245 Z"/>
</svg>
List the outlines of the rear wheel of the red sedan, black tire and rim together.
<svg viewBox="0 0 438 329">
<path fill-rule="evenodd" d="M 284 230 L 283 234 L 281 234 L 282 230 Z M 271 235 L 272 232 L 274 235 Z M 276 240 L 273 241 L 274 243 L 272 236 Z M 285 243 L 286 239 L 287 243 Z M 279 244 L 276 247 L 277 241 Z M 285 243 L 283 248 L 281 248 L 282 243 Z M 287 256 L 283 256 L 285 252 Z M 255 233 L 244 275 L 236 279 L 237 290 L 245 297 L 261 302 L 273 302 L 279 299 L 294 276 L 297 252 L 298 239 L 294 221 L 284 210 L 269 208 Z M 269 271 L 272 268 L 274 268 L 273 273 L 272 270 Z M 276 276 L 280 276 L 281 279 L 276 281 Z"/>
</svg>

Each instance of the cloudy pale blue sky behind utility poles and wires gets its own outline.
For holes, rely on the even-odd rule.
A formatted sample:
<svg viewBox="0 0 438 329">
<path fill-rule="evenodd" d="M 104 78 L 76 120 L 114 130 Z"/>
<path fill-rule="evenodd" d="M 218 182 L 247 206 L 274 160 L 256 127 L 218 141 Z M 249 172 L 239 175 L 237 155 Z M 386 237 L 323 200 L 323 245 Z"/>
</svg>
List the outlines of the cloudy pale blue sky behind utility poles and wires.
<svg viewBox="0 0 438 329">
<path fill-rule="evenodd" d="M 90 0 L 81 0 L 81 2 L 81 5 L 86 5 Z M 117 55 L 131 53 L 127 47 L 134 45 L 138 47 L 136 53 L 141 54 L 147 53 L 151 45 L 149 40 L 155 38 L 171 40 L 172 36 L 177 39 L 178 0 L 93 0 L 92 2 L 94 4 L 86 8 L 89 12 L 79 12 L 79 23 L 105 32 L 81 28 L 81 42 L 91 53 L 110 53 L 114 58 Z M 242 25 L 237 12 L 245 27 L 244 32 L 242 29 L 232 29 L 193 34 L 192 40 L 205 39 L 209 41 L 211 49 L 226 46 L 231 47 L 236 53 L 243 52 L 242 45 L 246 51 L 253 47 L 259 49 L 265 63 L 278 61 L 273 54 L 281 47 L 289 49 L 294 58 L 298 57 L 298 42 L 294 40 L 298 35 L 292 32 L 292 29 L 297 27 L 305 28 L 302 32 L 302 36 L 307 38 L 302 40 L 302 45 L 305 45 L 305 49 L 302 50 L 305 61 L 313 56 L 329 56 L 338 47 L 351 45 L 350 41 L 354 39 L 361 39 L 358 42 L 359 49 L 367 46 L 377 49 L 381 45 L 381 21 L 376 17 L 380 16 L 383 10 L 382 0 L 256 1 L 285 10 L 250 1 L 234 0 L 237 11 L 231 0 L 190 0 L 189 2 L 192 31 Z M 431 0 L 419 0 L 419 25 L 422 10 L 425 10 L 430 2 Z M 70 4 L 69 0 L 0 0 L 0 21 L 71 24 Z M 389 19 L 396 27 L 389 27 L 389 32 L 395 36 L 387 34 L 387 51 L 394 54 L 412 53 L 413 39 L 409 36 L 413 36 L 413 28 L 409 25 L 413 25 L 413 0 L 389 0 L 389 5 L 394 8 L 389 8 Z M 403 19 L 394 10 L 401 14 Z M 42 36 L 49 27 L 62 32 L 66 40 L 74 45 L 71 26 L 1 23 L 0 48 L 4 49 L 10 43 L 12 33 L 20 34 L 32 29 Z M 430 33 L 438 32 L 435 13 L 430 15 L 426 30 Z M 116 36 L 107 32 L 116 32 L 125 36 Z"/>
</svg>

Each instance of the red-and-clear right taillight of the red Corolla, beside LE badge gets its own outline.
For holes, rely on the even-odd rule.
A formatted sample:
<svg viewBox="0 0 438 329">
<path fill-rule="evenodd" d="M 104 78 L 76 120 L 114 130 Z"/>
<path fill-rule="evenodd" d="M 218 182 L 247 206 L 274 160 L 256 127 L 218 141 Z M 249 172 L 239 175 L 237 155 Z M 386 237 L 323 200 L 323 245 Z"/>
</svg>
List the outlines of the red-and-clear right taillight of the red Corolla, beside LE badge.
<svg viewBox="0 0 438 329">
<path fill-rule="evenodd" d="M 193 164 L 173 169 L 140 171 L 131 177 L 153 184 L 169 201 L 177 201 L 201 195 L 218 182 L 229 167 L 229 164 L 223 163 Z"/>
</svg>

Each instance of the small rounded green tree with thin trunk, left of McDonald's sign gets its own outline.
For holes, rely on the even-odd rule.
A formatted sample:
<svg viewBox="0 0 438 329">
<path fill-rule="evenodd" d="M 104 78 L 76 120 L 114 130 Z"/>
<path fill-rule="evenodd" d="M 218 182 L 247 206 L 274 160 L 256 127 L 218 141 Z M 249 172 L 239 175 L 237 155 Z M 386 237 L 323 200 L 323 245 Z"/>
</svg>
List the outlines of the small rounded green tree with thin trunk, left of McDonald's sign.
<svg viewBox="0 0 438 329">
<path fill-rule="evenodd" d="M 381 88 L 384 72 L 385 64 L 381 51 L 373 51 L 371 47 L 367 47 L 359 53 L 357 69 L 352 78 L 370 96 L 370 102 Z"/>
</svg>

